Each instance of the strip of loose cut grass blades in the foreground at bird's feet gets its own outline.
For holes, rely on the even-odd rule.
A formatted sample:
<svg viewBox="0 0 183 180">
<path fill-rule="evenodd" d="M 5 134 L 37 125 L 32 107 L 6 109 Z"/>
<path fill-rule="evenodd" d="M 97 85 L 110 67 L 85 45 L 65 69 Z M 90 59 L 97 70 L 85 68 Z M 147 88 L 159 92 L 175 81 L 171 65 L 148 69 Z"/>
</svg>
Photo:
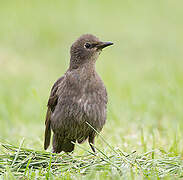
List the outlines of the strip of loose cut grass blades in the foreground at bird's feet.
<svg viewBox="0 0 183 180">
<path fill-rule="evenodd" d="M 109 144 L 106 145 L 111 149 Z M 179 156 L 169 157 L 165 153 L 156 152 L 160 158 L 154 159 L 152 153 L 155 151 L 144 154 L 134 151 L 124 155 L 119 149 L 103 152 L 97 148 L 97 154 L 84 149 L 85 154 L 78 156 L 26 149 L 21 147 L 22 143 L 19 147 L 11 144 L 2 146 L 4 151 L 0 154 L 0 174 L 4 178 L 72 179 L 86 176 L 93 179 L 97 178 L 98 173 L 107 179 L 134 179 L 134 176 L 140 174 L 146 178 L 183 177 L 183 161 Z"/>
</svg>

